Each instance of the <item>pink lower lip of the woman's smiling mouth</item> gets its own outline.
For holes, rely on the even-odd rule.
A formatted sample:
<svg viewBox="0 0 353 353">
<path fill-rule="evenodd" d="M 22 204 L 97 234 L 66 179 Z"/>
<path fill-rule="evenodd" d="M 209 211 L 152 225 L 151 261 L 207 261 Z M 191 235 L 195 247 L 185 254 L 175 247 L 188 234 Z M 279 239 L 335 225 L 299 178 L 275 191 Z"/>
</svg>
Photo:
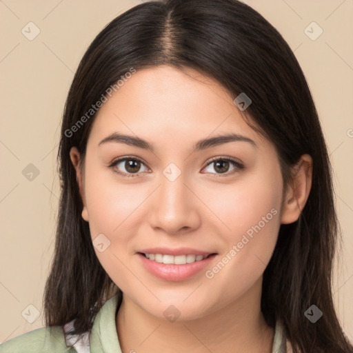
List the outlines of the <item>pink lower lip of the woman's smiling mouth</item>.
<svg viewBox="0 0 353 353">
<path fill-rule="evenodd" d="M 145 268 L 154 276 L 159 279 L 164 279 L 165 281 L 183 281 L 184 279 L 189 279 L 194 274 L 200 272 L 206 266 L 210 265 L 210 262 L 216 257 L 216 254 L 208 256 L 207 259 L 201 261 L 195 261 L 193 263 L 185 263 L 183 265 L 175 265 L 170 263 L 159 263 L 157 261 L 152 261 L 147 259 L 143 254 L 137 254 L 141 259 Z"/>
</svg>

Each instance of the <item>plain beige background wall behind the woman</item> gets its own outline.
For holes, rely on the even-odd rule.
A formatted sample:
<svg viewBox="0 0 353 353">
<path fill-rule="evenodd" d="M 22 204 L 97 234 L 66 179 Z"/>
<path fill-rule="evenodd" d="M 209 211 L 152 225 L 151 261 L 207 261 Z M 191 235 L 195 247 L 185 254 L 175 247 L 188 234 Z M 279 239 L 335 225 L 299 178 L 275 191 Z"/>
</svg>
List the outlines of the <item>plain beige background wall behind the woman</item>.
<svg viewBox="0 0 353 353">
<path fill-rule="evenodd" d="M 334 302 L 353 341 L 353 0 L 244 2 L 288 41 L 314 95 L 334 166 L 343 231 Z M 110 20 L 138 3 L 0 0 L 0 342 L 43 327 L 43 288 L 59 196 L 55 159 L 65 97 L 92 39 Z M 29 32 L 30 21 L 40 30 L 32 41 L 21 32 L 22 28 Z M 312 21 L 323 30 L 314 41 L 305 34 Z M 33 25 L 29 26 L 34 34 Z M 312 25 L 307 30 L 311 36 L 319 34 Z M 39 170 L 32 181 L 22 174 L 30 163 Z M 33 323 L 24 319 L 28 305 L 38 310 Z M 31 315 L 36 312 L 29 309 Z M 325 315 L 325 308 L 321 310 Z"/>
</svg>

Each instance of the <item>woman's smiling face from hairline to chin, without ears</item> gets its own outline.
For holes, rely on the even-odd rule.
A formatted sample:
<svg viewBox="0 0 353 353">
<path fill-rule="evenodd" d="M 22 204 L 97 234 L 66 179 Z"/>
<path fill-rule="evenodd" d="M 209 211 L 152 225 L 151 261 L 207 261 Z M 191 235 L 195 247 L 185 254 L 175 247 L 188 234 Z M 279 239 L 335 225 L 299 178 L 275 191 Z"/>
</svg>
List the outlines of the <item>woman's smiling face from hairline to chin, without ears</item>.
<svg viewBox="0 0 353 353">
<path fill-rule="evenodd" d="M 81 186 L 103 268 L 125 298 L 161 319 L 196 319 L 254 290 L 259 298 L 281 224 L 274 145 L 219 83 L 188 74 L 140 70 L 103 104 Z M 192 262 L 197 254 L 213 255 Z"/>
</svg>

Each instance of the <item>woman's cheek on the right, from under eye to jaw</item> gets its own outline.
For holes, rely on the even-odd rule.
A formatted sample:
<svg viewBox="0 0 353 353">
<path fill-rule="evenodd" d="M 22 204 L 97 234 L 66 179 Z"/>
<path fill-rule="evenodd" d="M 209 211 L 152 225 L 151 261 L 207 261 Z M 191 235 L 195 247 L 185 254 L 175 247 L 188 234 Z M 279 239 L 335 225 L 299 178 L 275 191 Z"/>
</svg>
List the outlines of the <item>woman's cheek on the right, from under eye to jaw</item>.
<svg viewBox="0 0 353 353">
<path fill-rule="evenodd" d="M 239 179 L 224 192 L 210 196 L 212 210 L 227 226 L 225 247 L 219 263 L 210 269 L 207 278 L 230 297 L 241 295 L 263 274 L 276 245 L 282 199 L 280 170 L 252 174 Z M 232 279 L 232 280 L 230 280 Z M 224 293 L 225 294 L 225 293 Z"/>
</svg>

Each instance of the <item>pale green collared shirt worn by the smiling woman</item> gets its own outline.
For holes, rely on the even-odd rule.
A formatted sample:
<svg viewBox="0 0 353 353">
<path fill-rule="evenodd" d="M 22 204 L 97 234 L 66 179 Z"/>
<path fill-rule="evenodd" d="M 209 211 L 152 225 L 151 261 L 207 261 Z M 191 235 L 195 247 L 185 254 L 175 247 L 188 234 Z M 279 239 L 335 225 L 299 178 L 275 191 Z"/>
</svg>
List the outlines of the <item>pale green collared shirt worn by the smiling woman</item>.
<svg viewBox="0 0 353 353">
<path fill-rule="evenodd" d="M 87 333 L 74 346 L 70 343 L 71 339 L 76 341 L 74 336 L 64 334 L 64 327 L 65 332 L 68 332 L 68 327 L 72 327 L 71 321 L 64 327 L 41 327 L 14 337 L 0 345 L 0 353 L 122 353 L 115 321 L 117 304 L 117 295 L 108 299 L 94 318 L 91 335 L 88 336 Z M 280 321 L 277 321 L 272 353 L 287 353 L 286 345 L 288 343 L 283 334 L 283 327 Z"/>
</svg>

